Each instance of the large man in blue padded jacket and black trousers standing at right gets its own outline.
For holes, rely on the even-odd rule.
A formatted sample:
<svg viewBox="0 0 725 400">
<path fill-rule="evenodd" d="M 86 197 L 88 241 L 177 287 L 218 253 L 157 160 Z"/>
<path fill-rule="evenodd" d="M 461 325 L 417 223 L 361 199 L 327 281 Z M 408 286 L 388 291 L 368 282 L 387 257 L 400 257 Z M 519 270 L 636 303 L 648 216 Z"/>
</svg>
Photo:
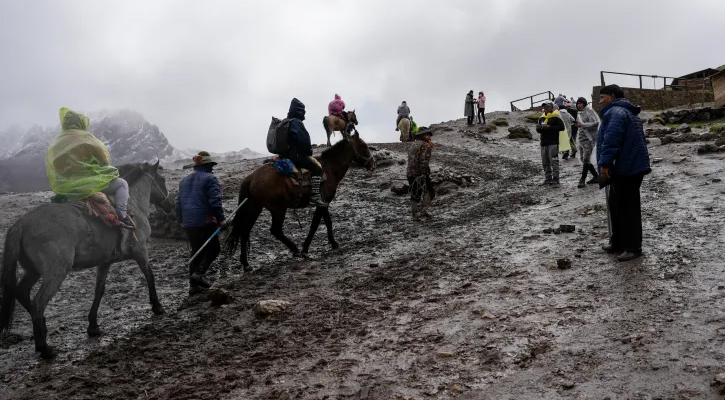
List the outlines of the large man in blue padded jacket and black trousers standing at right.
<svg viewBox="0 0 725 400">
<path fill-rule="evenodd" d="M 603 106 L 597 136 L 597 162 L 601 178 L 611 184 L 609 208 L 612 236 L 604 246 L 608 253 L 619 253 L 619 261 L 642 255 L 642 204 L 639 189 L 645 175 L 652 172 L 649 153 L 638 114 L 642 110 L 624 98 L 617 85 L 599 90 Z"/>
</svg>

